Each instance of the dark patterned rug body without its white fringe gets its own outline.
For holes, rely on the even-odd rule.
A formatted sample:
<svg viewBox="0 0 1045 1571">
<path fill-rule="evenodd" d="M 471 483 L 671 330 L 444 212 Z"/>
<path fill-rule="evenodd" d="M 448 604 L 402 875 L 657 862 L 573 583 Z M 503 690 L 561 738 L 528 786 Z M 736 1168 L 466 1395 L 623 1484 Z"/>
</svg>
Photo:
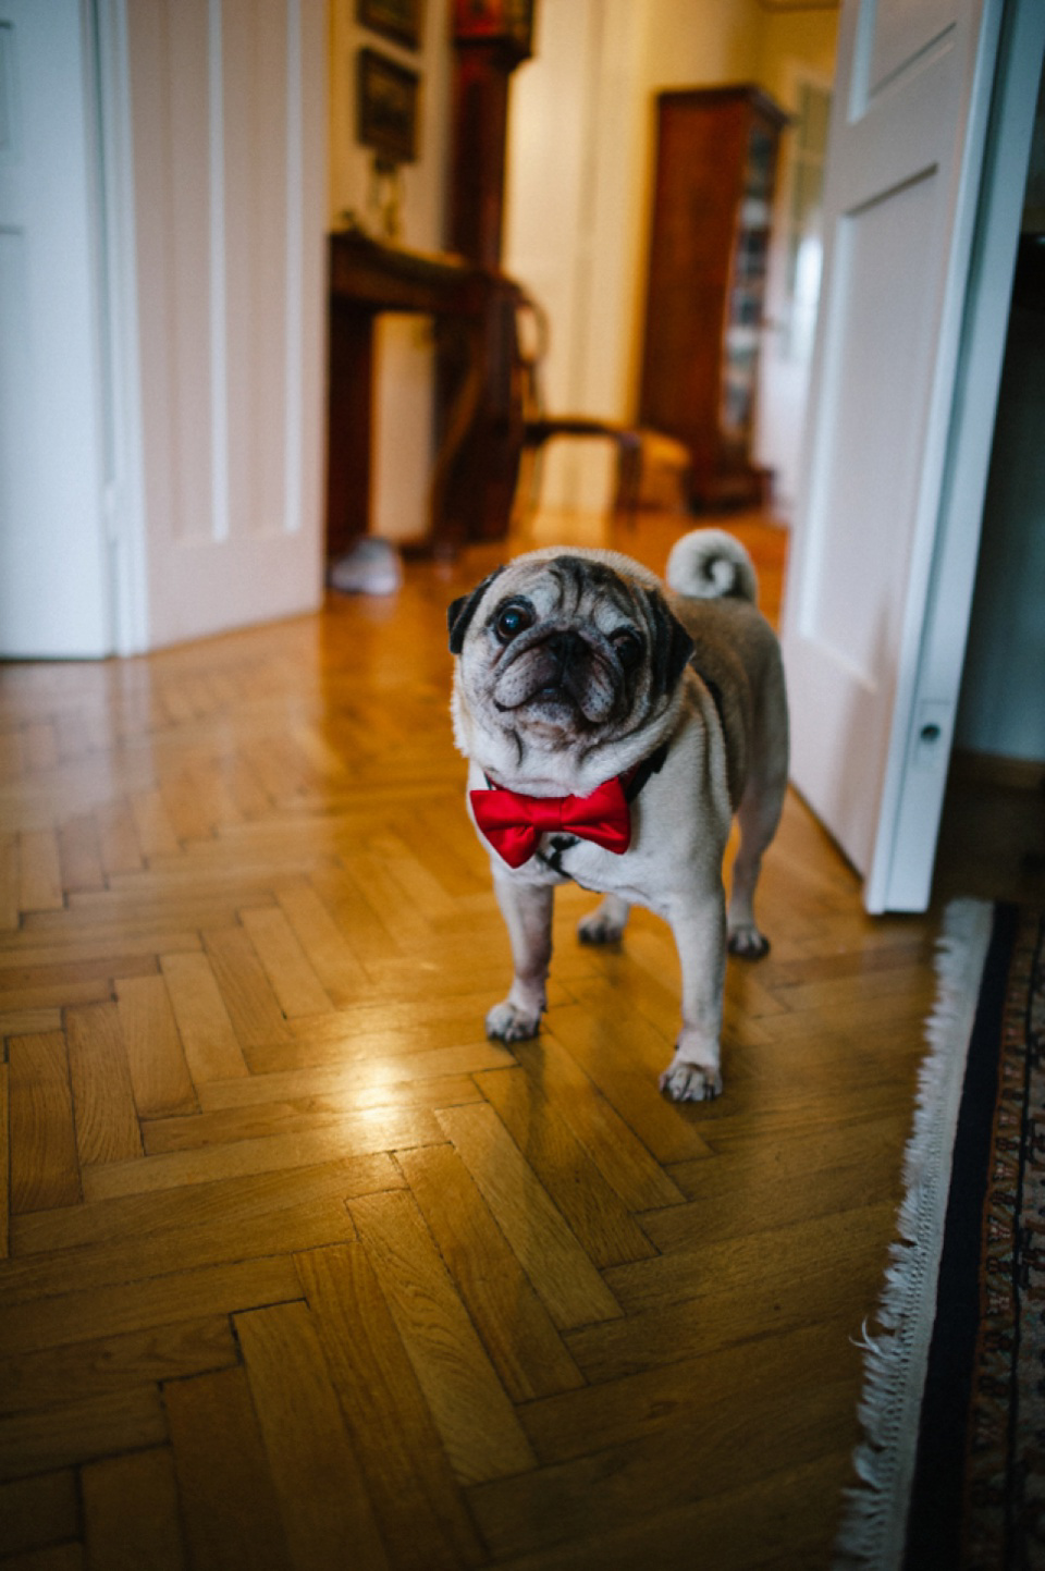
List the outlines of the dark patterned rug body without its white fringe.
<svg viewBox="0 0 1045 1571">
<path fill-rule="evenodd" d="M 948 1213 L 908 1571 L 1045 1568 L 1045 914 L 999 910 L 993 952 L 965 1093 L 987 1139 L 982 1161 L 976 1141 L 955 1152 L 966 1194 Z"/>
</svg>

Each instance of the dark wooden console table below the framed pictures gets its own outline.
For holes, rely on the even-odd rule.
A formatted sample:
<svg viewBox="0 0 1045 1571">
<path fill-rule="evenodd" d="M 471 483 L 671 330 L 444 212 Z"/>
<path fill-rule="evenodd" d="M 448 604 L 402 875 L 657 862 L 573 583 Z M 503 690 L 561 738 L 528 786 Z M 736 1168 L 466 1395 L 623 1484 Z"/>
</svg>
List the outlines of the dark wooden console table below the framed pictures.
<svg viewBox="0 0 1045 1571">
<path fill-rule="evenodd" d="M 467 539 L 506 533 L 514 470 L 506 446 L 511 372 L 504 313 L 514 295 L 515 286 L 501 273 L 457 256 L 407 251 L 354 231 L 330 236 L 328 556 L 346 551 L 369 528 L 374 319 L 382 311 L 432 316 L 437 331 L 445 324 L 454 328 L 459 369 L 449 385 L 440 386 L 429 526 L 418 544 L 453 555 Z M 511 481 L 497 487 L 481 473 L 490 463 L 489 443 L 481 437 L 490 434 L 501 437 L 500 467 L 508 465 Z M 482 512 L 476 514 L 476 507 Z"/>
</svg>

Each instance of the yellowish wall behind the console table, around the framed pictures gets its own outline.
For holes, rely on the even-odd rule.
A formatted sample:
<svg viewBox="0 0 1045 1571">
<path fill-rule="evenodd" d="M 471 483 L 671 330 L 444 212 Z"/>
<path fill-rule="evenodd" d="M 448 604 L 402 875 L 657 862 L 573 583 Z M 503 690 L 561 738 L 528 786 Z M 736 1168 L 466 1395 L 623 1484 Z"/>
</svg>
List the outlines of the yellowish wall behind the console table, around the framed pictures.
<svg viewBox="0 0 1045 1571">
<path fill-rule="evenodd" d="M 382 237 L 374 204 L 371 152 L 355 140 L 358 50 L 376 49 L 421 75 L 418 162 L 402 167 L 398 244 L 420 251 L 443 245 L 449 135 L 448 0 L 427 0 L 420 50 L 404 49 L 358 25 L 357 0 L 328 0 L 330 149 L 327 209 L 330 228 L 357 223 Z M 432 335 L 416 317 L 385 316 L 376 335 L 374 471 L 371 531 L 412 539 L 427 528 L 432 474 Z"/>
</svg>

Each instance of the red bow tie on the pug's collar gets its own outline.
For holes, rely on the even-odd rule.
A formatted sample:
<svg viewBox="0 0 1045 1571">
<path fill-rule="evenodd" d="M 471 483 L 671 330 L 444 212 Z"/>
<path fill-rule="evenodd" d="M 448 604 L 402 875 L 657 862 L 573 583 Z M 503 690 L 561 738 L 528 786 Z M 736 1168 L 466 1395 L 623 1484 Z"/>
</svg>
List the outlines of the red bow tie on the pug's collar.
<svg viewBox="0 0 1045 1571">
<path fill-rule="evenodd" d="M 618 778 L 589 796 L 522 796 L 504 786 L 468 792 L 475 822 L 509 867 L 522 867 L 542 834 L 575 834 L 614 856 L 632 844 L 632 815 Z"/>
</svg>

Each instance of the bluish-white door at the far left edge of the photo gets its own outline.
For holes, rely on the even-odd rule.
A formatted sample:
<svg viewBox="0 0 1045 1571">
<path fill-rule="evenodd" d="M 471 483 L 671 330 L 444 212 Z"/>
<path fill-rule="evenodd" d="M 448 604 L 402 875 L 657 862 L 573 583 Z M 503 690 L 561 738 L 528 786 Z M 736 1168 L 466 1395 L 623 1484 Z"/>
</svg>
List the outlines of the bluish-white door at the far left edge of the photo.
<svg viewBox="0 0 1045 1571">
<path fill-rule="evenodd" d="M 0 655 L 112 649 L 80 0 L 0 0 Z"/>
</svg>

